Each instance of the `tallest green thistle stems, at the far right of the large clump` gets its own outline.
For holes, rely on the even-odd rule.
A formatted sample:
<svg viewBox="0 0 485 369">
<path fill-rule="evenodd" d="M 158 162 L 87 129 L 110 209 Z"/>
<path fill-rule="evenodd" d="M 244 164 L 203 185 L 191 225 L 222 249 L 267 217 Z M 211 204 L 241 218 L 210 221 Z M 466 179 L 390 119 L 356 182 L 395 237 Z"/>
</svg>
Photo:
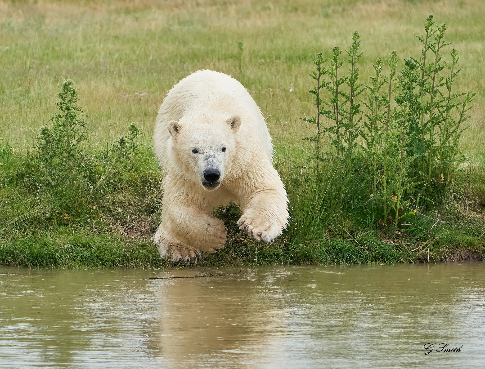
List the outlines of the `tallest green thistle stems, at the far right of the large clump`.
<svg viewBox="0 0 485 369">
<path fill-rule="evenodd" d="M 428 195 L 430 191 L 443 192 L 450 188 L 453 173 L 463 156 L 458 155 L 458 139 L 463 132 L 463 123 L 469 118 L 473 93 L 454 93 L 453 82 L 460 69 L 458 52 L 450 53 L 451 64 L 443 60 L 443 49 L 450 45 L 445 40 L 447 26 L 436 26 L 433 16 L 428 16 L 425 34 L 417 36 L 423 44 L 420 59 L 409 58 L 403 71 L 406 80 L 401 79 L 401 88 L 406 91 L 399 104 L 407 103 L 409 108 L 409 129 L 406 134 L 412 138 L 408 151 L 419 157 L 413 163 L 413 176 L 426 178 Z M 427 57 L 431 54 L 433 57 Z M 444 75 L 443 71 L 449 70 Z M 419 95 L 419 99 L 416 96 Z M 462 105 L 463 104 L 463 105 Z M 419 117 L 419 121 L 416 118 Z M 449 132 L 453 134 L 449 135 Z M 456 140 L 455 140 L 456 137 Z"/>
</svg>

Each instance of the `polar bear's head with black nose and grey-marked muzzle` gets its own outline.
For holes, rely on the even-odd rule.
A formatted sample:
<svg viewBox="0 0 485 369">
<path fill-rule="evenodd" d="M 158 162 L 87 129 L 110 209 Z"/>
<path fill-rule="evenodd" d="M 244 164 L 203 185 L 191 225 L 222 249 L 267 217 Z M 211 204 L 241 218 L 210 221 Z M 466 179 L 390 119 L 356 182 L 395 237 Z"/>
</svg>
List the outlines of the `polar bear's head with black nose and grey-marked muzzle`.
<svg viewBox="0 0 485 369">
<path fill-rule="evenodd" d="M 235 134 L 240 126 L 238 115 L 182 117 L 168 124 L 175 157 L 206 190 L 215 190 L 224 180 L 235 155 Z"/>
</svg>

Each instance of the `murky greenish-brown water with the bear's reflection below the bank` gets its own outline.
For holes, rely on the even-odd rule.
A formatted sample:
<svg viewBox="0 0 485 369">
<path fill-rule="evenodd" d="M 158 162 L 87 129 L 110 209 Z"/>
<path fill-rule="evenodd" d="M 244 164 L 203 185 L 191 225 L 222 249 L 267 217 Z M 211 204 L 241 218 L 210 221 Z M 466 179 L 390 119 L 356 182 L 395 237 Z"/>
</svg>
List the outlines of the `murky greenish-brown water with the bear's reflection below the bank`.
<svg viewBox="0 0 485 369">
<path fill-rule="evenodd" d="M 484 263 L 210 272 L 0 268 L 0 367 L 485 367 Z"/>
</svg>

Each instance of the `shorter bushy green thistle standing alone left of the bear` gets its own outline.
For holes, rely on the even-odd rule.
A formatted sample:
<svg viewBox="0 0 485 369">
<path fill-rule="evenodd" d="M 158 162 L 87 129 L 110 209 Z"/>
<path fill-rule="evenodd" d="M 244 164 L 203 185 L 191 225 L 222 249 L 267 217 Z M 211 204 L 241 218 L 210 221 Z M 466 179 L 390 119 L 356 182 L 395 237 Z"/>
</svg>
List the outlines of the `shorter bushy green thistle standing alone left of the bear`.
<svg viewBox="0 0 485 369">
<path fill-rule="evenodd" d="M 58 112 L 51 127 L 42 128 L 37 137 L 31 177 L 38 195 L 51 199 L 61 218 L 67 220 L 80 216 L 90 203 L 106 194 L 99 190 L 113 179 L 115 168 L 129 161 L 137 150 L 141 131 L 133 123 L 126 136 L 107 144 L 103 152 L 86 152 L 83 143 L 88 137 L 78 90 L 71 80 L 63 81 L 60 87 Z"/>
</svg>

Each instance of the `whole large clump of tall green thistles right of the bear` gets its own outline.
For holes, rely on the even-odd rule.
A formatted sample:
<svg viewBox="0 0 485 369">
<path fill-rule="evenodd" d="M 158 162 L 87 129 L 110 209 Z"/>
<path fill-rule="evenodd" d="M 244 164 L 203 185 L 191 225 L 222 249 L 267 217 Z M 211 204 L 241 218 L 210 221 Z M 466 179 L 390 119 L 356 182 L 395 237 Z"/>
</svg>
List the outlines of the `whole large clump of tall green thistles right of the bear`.
<svg viewBox="0 0 485 369">
<path fill-rule="evenodd" d="M 394 230 L 427 204 L 444 201 L 445 194 L 453 197 L 454 173 L 466 160 L 459 139 L 475 94 L 455 91 L 459 57 L 453 49 L 451 61 L 444 59 L 446 29 L 427 16 L 424 33 L 416 36 L 422 43 L 420 57 L 408 57 L 401 67 L 395 50 L 384 60 L 377 58 L 369 83 L 358 80 L 362 53 L 357 32 L 345 58 L 336 46 L 327 61 L 317 55 L 317 70 L 310 74 L 317 81 L 309 91 L 317 115 L 302 119 L 317 125 L 318 155 L 325 133 L 333 147 L 324 158 L 334 163 L 332 173 L 348 183 L 352 173 L 366 170 L 362 185 L 370 198 L 363 206 L 372 221 L 392 224 Z M 322 99 L 322 89 L 328 100 Z"/>
</svg>

